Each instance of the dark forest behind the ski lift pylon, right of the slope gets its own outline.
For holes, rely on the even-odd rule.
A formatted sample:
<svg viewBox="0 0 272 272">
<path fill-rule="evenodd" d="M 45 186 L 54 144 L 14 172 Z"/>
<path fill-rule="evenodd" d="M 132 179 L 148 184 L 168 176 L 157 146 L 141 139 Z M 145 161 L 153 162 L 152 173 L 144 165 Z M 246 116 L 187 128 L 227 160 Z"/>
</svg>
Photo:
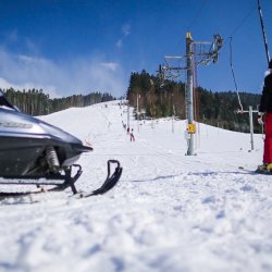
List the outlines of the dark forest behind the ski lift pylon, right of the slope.
<svg viewBox="0 0 272 272">
<path fill-rule="evenodd" d="M 158 76 L 150 75 L 145 70 L 141 73 L 132 73 L 126 92 L 131 106 L 145 112 L 146 116 L 163 118 L 176 116 L 186 119 L 186 85 L 182 82 L 160 81 Z M 260 95 L 239 92 L 244 111 L 249 106 L 257 109 Z M 249 114 L 237 113 L 240 106 L 237 94 L 234 91 L 211 91 L 202 87 L 194 89 L 195 120 L 230 131 L 249 132 Z M 261 127 L 254 118 L 255 132 L 260 133 Z"/>
</svg>

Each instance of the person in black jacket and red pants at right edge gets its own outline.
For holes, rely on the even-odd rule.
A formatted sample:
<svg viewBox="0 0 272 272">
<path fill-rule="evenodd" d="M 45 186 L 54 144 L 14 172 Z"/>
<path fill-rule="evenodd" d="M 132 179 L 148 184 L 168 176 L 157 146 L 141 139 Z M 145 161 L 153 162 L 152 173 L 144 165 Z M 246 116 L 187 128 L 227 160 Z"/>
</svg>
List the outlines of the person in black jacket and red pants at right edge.
<svg viewBox="0 0 272 272">
<path fill-rule="evenodd" d="M 263 114 L 265 131 L 262 160 L 263 164 L 259 165 L 257 171 L 272 173 L 272 60 L 269 62 L 269 74 L 264 77 L 264 85 L 258 113 L 259 123 L 262 123 Z"/>
</svg>

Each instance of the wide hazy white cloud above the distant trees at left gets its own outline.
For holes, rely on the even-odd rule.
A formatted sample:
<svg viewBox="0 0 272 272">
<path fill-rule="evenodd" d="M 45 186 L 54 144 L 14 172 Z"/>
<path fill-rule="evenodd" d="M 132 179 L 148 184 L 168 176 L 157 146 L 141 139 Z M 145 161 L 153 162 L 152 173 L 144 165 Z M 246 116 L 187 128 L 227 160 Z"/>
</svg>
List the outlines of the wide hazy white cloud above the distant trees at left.
<svg viewBox="0 0 272 272">
<path fill-rule="evenodd" d="M 122 66 L 101 55 L 57 63 L 45 58 L 15 55 L 0 48 L 0 87 L 42 88 L 50 96 L 91 91 L 120 97 L 126 90 Z"/>
</svg>

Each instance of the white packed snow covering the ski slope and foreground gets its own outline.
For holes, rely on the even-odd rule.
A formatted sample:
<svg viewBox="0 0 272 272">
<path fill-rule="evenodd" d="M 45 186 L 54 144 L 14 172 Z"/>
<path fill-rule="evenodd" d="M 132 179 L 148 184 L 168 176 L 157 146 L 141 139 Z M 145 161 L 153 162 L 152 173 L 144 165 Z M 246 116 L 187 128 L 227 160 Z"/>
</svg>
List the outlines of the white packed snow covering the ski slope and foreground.
<svg viewBox="0 0 272 272">
<path fill-rule="evenodd" d="M 200 124 L 186 156 L 185 121 L 131 120 L 120 101 L 69 109 L 48 123 L 91 144 L 77 188 L 90 191 L 120 160 L 102 196 L 71 189 L 0 200 L 0 271 L 272 271 L 272 176 L 257 175 L 262 135 Z M 132 116 L 132 112 L 131 112 Z"/>
</svg>

